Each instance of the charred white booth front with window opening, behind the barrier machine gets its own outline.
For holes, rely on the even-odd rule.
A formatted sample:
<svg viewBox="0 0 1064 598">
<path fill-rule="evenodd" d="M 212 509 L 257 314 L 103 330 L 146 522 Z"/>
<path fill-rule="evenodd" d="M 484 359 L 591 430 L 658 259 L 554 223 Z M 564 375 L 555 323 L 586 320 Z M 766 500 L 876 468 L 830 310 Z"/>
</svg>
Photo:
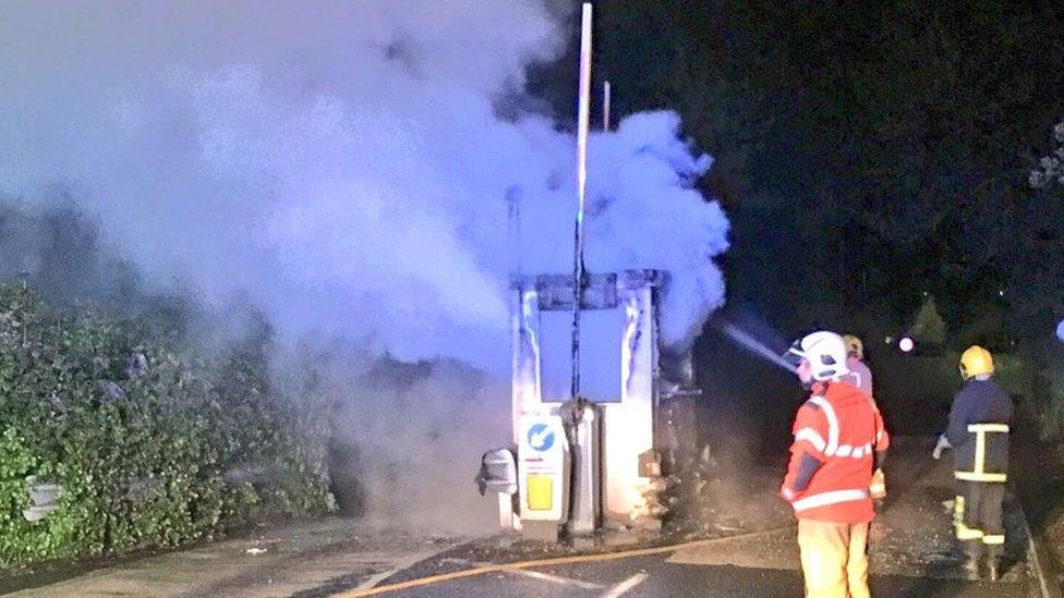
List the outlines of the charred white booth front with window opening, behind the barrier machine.
<svg viewBox="0 0 1064 598">
<path fill-rule="evenodd" d="M 661 399 L 678 386 L 664 381 L 660 370 L 657 304 L 664 283 L 657 270 L 628 270 L 591 276 L 582 293 L 581 394 L 598 414 L 594 434 L 601 454 L 596 483 L 589 488 L 601 488 L 593 491 L 601 492 L 600 516 L 606 524 L 656 524 L 658 476 L 668 467 L 658 455 L 675 454 L 676 435 L 657 420 L 664 415 Z M 518 447 L 528 443 L 524 428 L 534 422 L 529 416 L 560 416 L 569 400 L 572 301 L 572 277 L 515 280 L 512 425 Z M 524 463 L 530 466 L 535 462 Z M 518 468 L 519 485 L 528 484 L 522 463 Z"/>
</svg>

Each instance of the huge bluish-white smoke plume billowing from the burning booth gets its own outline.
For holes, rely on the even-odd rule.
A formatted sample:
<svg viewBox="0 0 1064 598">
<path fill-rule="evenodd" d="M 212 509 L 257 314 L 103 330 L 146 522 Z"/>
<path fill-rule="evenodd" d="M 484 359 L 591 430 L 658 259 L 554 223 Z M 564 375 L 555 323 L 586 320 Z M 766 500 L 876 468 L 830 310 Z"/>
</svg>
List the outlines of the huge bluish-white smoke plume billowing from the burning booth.
<svg viewBox="0 0 1064 598">
<path fill-rule="evenodd" d="M 525 272 L 570 271 L 575 138 L 496 110 L 530 63 L 564 50 L 567 28 L 539 2 L 13 0 L 2 12 L 0 196 L 69 195 L 159 288 L 247 297 L 288 338 L 316 331 L 504 380 L 507 197 L 520 197 Z M 712 258 L 728 228 L 691 187 L 710 159 L 679 131 L 655 112 L 595 134 L 587 221 L 591 271 L 672 273 L 672 343 L 723 302 Z"/>
</svg>

